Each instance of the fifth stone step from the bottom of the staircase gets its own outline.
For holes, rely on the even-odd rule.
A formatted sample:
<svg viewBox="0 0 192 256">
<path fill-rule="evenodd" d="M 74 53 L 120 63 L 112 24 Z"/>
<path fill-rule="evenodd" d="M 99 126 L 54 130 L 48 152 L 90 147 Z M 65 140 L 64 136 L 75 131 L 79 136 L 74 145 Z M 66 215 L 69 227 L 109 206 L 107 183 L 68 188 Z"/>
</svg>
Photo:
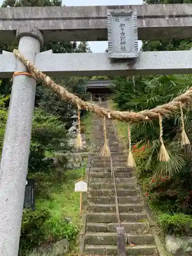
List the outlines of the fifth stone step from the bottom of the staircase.
<svg viewBox="0 0 192 256">
<path fill-rule="evenodd" d="M 144 205 L 140 204 L 118 204 L 119 213 L 124 212 L 143 212 Z M 88 212 L 116 212 L 116 204 L 89 204 L 87 205 Z"/>
</svg>

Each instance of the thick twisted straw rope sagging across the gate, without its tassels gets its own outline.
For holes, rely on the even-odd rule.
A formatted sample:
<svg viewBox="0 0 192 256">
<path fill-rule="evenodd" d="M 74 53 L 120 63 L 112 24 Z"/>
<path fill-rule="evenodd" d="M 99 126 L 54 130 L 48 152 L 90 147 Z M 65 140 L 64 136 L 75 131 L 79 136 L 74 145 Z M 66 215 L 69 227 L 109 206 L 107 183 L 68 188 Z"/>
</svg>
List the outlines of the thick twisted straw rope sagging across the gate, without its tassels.
<svg viewBox="0 0 192 256">
<path fill-rule="evenodd" d="M 60 94 L 63 99 L 72 101 L 74 104 L 79 105 L 81 109 L 84 109 L 84 110 L 88 109 L 89 111 L 92 111 L 102 117 L 105 116 L 106 118 L 108 118 L 110 113 L 111 119 L 116 119 L 119 121 L 126 121 L 126 122 L 131 121 L 132 123 L 150 121 L 152 119 L 158 119 L 159 115 L 161 115 L 162 117 L 166 115 L 170 115 L 172 112 L 180 110 L 180 102 L 184 106 L 185 103 L 191 102 L 192 100 L 192 87 L 191 87 L 185 93 L 176 97 L 169 103 L 157 106 L 156 108 L 151 110 L 144 110 L 138 113 L 126 112 L 126 111 L 125 112 L 112 111 L 106 108 L 101 108 L 101 106 L 90 103 L 88 101 L 83 101 L 76 95 L 69 93 L 66 88 L 59 86 L 49 76 L 45 75 L 44 73 L 36 69 L 35 66 L 29 60 L 27 60 L 18 50 L 13 50 L 13 53 L 20 61 L 22 61 L 28 67 L 32 76 L 44 82 L 46 86 L 52 88 L 52 90 Z"/>
</svg>

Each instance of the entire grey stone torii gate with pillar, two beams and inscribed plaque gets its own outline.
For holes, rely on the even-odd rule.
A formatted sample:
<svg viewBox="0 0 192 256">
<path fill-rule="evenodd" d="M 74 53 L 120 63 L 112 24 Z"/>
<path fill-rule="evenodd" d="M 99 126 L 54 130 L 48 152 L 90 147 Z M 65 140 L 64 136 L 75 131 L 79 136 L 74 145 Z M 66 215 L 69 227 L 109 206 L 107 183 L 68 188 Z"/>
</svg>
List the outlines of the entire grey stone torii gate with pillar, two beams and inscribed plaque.
<svg viewBox="0 0 192 256">
<path fill-rule="evenodd" d="M 138 39 L 192 37 L 192 5 L 26 7 L 0 9 L 0 38 L 49 76 L 192 73 L 192 51 L 138 52 Z M 108 40 L 109 53 L 40 53 L 49 40 Z M 27 71 L 0 55 L 0 78 Z M 15 76 L 0 173 L 0 255 L 17 256 L 36 80 Z"/>
</svg>

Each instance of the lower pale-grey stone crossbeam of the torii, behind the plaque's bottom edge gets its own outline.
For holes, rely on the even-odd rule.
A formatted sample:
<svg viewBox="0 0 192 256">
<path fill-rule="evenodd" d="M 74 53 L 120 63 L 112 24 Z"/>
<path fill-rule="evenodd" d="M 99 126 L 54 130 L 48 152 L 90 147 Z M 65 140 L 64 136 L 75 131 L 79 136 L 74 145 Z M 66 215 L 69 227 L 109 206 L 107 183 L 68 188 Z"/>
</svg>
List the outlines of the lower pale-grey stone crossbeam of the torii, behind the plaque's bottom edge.
<svg viewBox="0 0 192 256">
<path fill-rule="evenodd" d="M 112 62 L 108 53 L 37 53 L 35 66 L 49 76 L 192 73 L 192 51 L 140 52 L 137 60 Z M 16 68 L 13 53 L 0 55 L 0 78 Z"/>
</svg>

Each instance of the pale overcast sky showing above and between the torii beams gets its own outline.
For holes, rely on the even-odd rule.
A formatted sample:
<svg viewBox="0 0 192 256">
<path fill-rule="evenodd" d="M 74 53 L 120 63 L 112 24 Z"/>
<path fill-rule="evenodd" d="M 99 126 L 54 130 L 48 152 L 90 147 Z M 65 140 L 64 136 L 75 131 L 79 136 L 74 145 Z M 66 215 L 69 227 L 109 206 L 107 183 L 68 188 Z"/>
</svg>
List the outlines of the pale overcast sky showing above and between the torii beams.
<svg viewBox="0 0 192 256">
<path fill-rule="evenodd" d="M 63 5 L 66 6 L 96 6 L 96 5 L 141 5 L 142 0 L 62 0 Z M 3 0 L 0 0 L 2 5 Z M 108 48 L 106 41 L 92 41 L 89 42 L 92 52 L 104 52 Z M 139 48 L 141 41 L 139 41 Z"/>
</svg>

